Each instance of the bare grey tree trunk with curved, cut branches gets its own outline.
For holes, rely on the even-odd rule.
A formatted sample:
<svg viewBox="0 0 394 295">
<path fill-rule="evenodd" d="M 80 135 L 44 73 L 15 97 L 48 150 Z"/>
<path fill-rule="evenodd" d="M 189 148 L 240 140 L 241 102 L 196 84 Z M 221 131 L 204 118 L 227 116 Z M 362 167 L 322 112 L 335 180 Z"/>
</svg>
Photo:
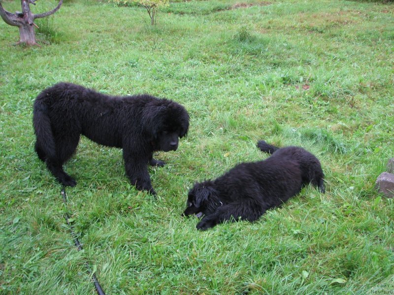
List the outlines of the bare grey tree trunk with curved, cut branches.
<svg viewBox="0 0 394 295">
<path fill-rule="evenodd" d="M 18 43 L 25 43 L 27 45 L 38 45 L 35 40 L 34 32 L 34 27 L 38 27 L 36 24 L 34 24 L 34 19 L 54 14 L 56 11 L 59 10 L 60 6 L 63 3 L 63 0 L 60 0 L 59 4 L 54 9 L 40 14 L 33 14 L 30 10 L 30 4 L 35 5 L 35 1 L 36 0 L 21 0 L 22 12 L 15 13 L 11 13 L 5 10 L 0 2 L 0 16 L 3 21 L 10 26 L 16 26 L 19 28 L 20 40 Z"/>
</svg>

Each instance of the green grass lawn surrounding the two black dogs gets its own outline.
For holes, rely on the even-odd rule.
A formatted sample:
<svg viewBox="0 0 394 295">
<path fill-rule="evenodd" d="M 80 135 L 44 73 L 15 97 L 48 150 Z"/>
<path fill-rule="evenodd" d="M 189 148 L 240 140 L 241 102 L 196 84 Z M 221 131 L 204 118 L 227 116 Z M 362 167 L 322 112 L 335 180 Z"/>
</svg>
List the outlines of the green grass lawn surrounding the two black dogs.
<svg viewBox="0 0 394 295">
<path fill-rule="evenodd" d="M 394 4 L 240 3 L 260 2 L 178 1 L 151 27 L 143 8 L 67 0 L 34 48 L 0 22 L 1 294 L 94 294 L 84 260 L 107 294 L 366 294 L 394 274 L 394 204 L 374 190 L 394 156 Z M 130 185 L 120 150 L 81 140 L 66 171 L 82 252 L 33 150 L 33 100 L 60 81 L 167 97 L 191 116 L 150 168 L 157 200 Z M 181 217 L 188 189 L 266 157 L 260 139 L 316 154 L 327 193 L 198 232 Z"/>
</svg>

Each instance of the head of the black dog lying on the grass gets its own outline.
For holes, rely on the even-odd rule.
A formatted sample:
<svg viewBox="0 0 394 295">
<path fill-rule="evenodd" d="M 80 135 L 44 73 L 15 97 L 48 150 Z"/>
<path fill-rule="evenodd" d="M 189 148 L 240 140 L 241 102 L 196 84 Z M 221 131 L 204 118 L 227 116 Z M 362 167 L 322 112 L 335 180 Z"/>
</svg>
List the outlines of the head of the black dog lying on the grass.
<svg viewBox="0 0 394 295">
<path fill-rule="evenodd" d="M 222 206 L 222 202 L 217 197 L 218 193 L 211 181 L 196 183 L 189 191 L 186 210 L 183 215 L 189 216 L 196 214 L 197 217 L 202 214 L 209 214 Z"/>
</svg>

